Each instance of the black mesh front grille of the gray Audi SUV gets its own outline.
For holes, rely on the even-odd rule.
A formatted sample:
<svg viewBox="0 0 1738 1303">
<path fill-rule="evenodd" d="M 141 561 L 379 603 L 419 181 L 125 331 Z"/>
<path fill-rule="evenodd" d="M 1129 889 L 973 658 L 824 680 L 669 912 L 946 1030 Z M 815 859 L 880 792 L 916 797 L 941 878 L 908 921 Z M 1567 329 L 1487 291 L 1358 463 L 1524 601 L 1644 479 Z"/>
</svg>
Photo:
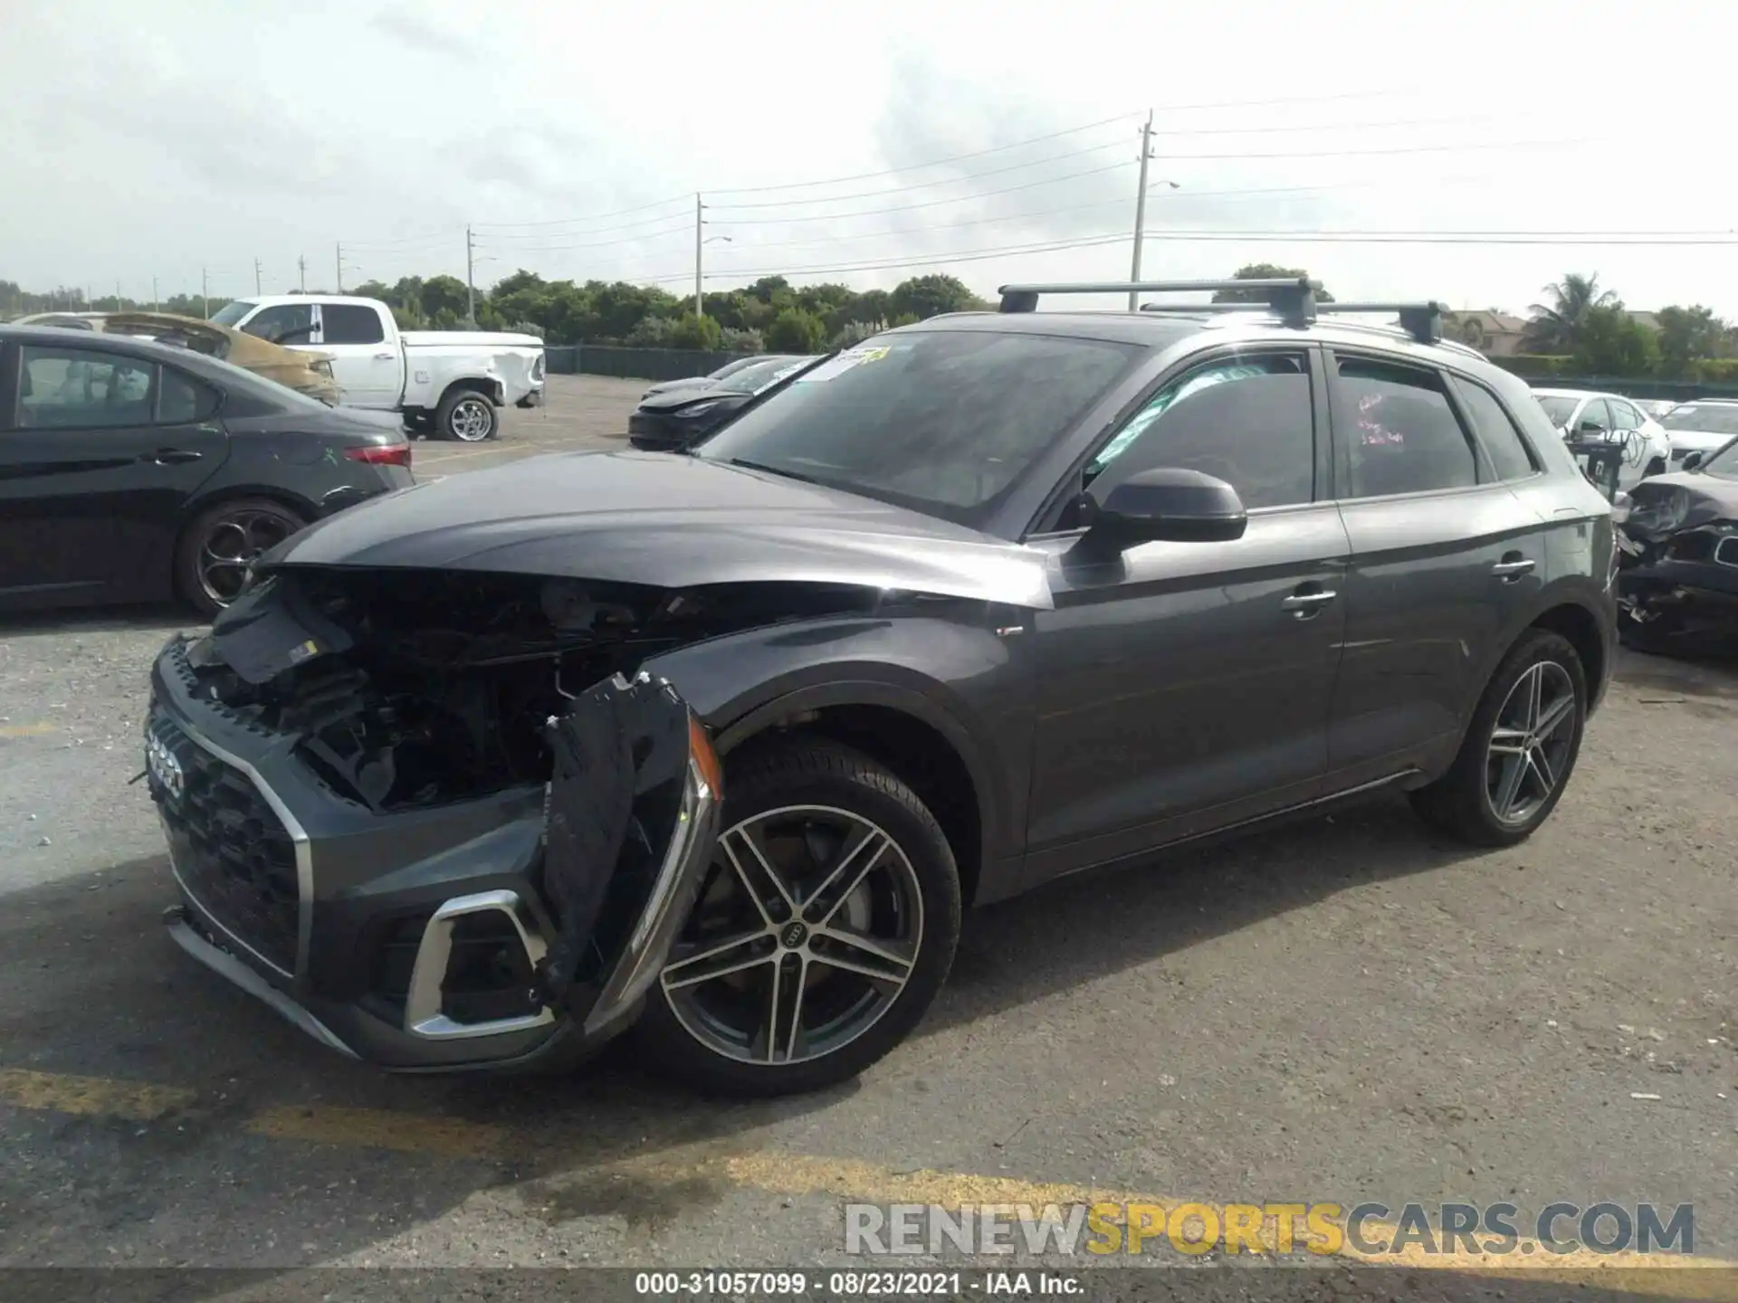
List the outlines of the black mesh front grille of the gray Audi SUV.
<svg viewBox="0 0 1738 1303">
<path fill-rule="evenodd" d="M 238 942 L 283 973 L 295 971 L 301 890 L 295 841 L 254 782 L 174 721 L 151 733 L 181 764 L 181 792 L 151 784 L 182 888 Z"/>
</svg>

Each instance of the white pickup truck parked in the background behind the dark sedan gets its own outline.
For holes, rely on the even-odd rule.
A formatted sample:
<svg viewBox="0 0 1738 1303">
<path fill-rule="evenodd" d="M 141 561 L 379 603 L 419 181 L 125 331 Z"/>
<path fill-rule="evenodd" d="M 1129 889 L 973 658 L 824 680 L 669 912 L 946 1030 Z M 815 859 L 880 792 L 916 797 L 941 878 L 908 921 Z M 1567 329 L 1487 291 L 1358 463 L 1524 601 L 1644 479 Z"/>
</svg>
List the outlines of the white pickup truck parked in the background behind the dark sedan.
<svg viewBox="0 0 1738 1303">
<path fill-rule="evenodd" d="M 497 408 L 539 407 L 544 398 L 544 346 L 537 335 L 400 330 L 393 309 L 379 299 L 236 299 L 212 321 L 328 356 L 348 407 L 403 412 L 412 433 L 440 440 L 492 440 L 501 427 Z"/>
</svg>

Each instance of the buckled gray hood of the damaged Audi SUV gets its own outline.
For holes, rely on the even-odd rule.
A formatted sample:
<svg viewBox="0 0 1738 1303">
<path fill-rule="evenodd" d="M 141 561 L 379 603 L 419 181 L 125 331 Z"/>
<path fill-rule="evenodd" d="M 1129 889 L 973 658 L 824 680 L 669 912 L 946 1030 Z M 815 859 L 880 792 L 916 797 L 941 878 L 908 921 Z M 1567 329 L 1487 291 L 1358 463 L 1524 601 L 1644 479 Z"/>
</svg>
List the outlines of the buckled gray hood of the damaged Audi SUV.
<svg viewBox="0 0 1738 1303">
<path fill-rule="evenodd" d="M 415 485 L 294 535 L 271 566 L 476 570 L 690 587 L 815 582 L 1048 608 L 1046 558 L 833 488 L 695 457 L 580 452 Z"/>
</svg>

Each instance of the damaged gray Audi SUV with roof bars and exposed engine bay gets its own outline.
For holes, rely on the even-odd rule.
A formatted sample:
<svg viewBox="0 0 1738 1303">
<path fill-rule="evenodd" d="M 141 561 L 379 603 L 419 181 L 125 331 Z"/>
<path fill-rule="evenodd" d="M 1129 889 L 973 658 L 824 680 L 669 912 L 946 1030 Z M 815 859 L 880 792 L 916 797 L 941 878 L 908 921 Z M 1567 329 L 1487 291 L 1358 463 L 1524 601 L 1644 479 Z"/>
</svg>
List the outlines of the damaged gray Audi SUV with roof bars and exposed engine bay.
<svg viewBox="0 0 1738 1303">
<path fill-rule="evenodd" d="M 1434 304 L 1234 287 L 1006 287 L 688 453 L 283 542 L 151 674 L 170 933 L 389 1068 L 631 1029 L 775 1095 L 899 1044 L 965 907 L 1380 792 L 1526 837 L 1609 678 L 1609 504 Z"/>
</svg>

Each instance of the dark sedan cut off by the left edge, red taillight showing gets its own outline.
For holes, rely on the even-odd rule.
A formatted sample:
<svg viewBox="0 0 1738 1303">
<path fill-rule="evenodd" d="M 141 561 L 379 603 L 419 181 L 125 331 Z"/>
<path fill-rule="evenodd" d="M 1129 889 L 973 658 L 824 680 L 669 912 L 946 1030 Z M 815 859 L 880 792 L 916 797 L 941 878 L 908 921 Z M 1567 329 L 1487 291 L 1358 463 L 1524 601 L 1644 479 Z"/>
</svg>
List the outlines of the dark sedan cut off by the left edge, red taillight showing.
<svg viewBox="0 0 1738 1303">
<path fill-rule="evenodd" d="M 214 613 L 315 519 L 407 488 L 398 417 L 137 339 L 0 327 L 0 610 Z"/>
</svg>

